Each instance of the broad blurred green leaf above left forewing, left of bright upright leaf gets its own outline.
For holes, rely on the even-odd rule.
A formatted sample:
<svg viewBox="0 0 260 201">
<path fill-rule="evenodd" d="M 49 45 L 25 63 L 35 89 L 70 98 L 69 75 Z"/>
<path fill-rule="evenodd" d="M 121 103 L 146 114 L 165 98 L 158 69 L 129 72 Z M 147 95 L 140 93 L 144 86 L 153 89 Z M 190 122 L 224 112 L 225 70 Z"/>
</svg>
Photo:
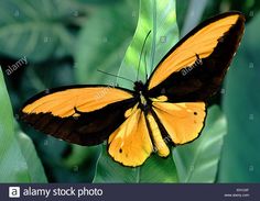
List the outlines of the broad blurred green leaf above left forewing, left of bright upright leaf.
<svg viewBox="0 0 260 201">
<path fill-rule="evenodd" d="M 99 8 L 79 33 L 75 52 L 75 74 L 82 83 L 115 83 L 121 59 L 133 35 L 137 1 L 122 0 Z M 120 19 L 120 20 L 119 20 Z"/>
</svg>

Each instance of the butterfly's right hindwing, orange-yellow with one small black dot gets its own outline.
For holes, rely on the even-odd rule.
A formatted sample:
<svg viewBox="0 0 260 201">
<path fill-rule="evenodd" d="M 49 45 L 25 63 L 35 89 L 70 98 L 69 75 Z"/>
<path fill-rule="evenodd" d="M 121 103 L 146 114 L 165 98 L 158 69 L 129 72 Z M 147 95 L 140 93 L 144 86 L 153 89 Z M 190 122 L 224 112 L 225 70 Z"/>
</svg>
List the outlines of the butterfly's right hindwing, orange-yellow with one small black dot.
<svg viewBox="0 0 260 201">
<path fill-rule="evenodd" d="M 153 110 L 174 144 L 185 144 L 195 139 L 204 126 L 204 102 L 153 102 Z"/>
</svg>

